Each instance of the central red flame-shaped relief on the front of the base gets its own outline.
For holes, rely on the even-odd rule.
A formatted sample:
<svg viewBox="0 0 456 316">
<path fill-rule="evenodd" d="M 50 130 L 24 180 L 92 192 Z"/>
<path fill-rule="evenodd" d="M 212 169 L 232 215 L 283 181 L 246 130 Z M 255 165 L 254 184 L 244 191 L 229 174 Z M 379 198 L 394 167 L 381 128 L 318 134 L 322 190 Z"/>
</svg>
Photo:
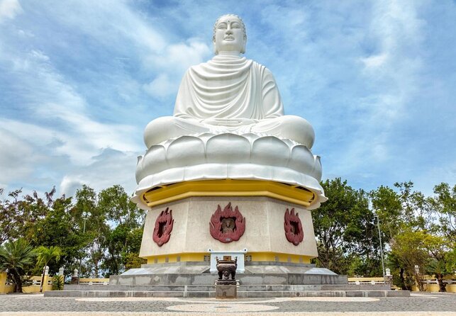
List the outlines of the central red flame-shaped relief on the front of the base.
<svg viewBox="0 0 456 316">
<path fill-rule="evenodd" d="M 245 218 L 238 206 L 233 210 L 231 202 L 223 210 L 218 205 L 216 212 L 211 216 L 209 230 L 211 236 L 220 242 L 238 241 L 245 232 Z"/>
</svg>

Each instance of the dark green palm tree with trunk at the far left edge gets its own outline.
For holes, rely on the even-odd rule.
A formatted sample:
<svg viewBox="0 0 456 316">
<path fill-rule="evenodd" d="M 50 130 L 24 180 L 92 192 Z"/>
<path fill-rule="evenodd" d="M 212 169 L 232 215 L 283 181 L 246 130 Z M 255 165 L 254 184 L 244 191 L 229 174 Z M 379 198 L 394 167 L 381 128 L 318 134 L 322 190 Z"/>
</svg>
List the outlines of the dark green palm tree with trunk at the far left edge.
<svg viewBox="0 0 456 316">
<path fill-rule="evenodd" d="M 33 263 L 34 257 L 34 250 L 25 239 L 6 242 L 0 246 L 0 268 L 8 269 L 15 293 L 22 293 L 21 276 L 25 274 L 26 267 Z"/>
</svg>

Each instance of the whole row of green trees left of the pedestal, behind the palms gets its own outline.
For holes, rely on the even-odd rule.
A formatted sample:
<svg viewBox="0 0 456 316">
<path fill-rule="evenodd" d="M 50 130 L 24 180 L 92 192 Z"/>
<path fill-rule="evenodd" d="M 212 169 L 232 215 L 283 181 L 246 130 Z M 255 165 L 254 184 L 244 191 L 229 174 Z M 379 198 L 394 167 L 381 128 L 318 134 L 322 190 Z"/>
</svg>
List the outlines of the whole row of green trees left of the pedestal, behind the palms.
<svg viewBox="0 0 456 316">
<path fill-rule="evenodd" d="M 143 262 L 138 254 L 145 213 L 121 186 L 99 193 L 82 186 L 74 198 L 56 198 L 52 188 L 43 196 L 23 196 L 19 189 L 0 201 L 0 244 L 23 237 L 32 249 L 60 249 L 59 259 L 47 263 L 50 273 L 60 266 L 72 273 L 82 262 L 82 276 L 109 276 L 122 273 L 132 262 Z M 85 232 L 84 212 L 91 214 Z"/>
</svg>

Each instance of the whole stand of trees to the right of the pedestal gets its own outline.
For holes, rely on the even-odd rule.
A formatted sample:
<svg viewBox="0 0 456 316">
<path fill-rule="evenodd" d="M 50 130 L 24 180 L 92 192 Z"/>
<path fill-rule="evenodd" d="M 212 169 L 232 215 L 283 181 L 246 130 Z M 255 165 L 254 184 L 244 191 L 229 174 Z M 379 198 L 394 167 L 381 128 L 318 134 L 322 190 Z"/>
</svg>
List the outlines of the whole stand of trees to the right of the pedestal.
<svg viewBox="0 0 456 316">
<path fill-rule="evenodd" d="M 322 183 L 329 200 L 312 211 L 318 266 L 350 276 L 381 276 L 380 239 L 394 283 L 424 290 L 425 273 L 445 290 L 456 267 L 456 186 L 439 184 L 426 197 L 401 182 L 365 193 L 341 179 Z M 375 216 L 378 216 L 379 230 Z"/>
</svg>

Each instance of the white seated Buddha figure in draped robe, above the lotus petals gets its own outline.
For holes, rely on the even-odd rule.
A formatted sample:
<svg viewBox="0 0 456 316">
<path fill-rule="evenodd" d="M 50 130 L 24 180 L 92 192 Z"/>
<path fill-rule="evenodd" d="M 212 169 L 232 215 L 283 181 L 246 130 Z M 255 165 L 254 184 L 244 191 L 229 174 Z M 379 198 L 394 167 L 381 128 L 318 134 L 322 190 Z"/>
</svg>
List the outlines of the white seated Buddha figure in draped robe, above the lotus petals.
<svg viewBox="0 0 456 316">
<path fill-rule="evenodd" d="M 150 148 L 166 140 L 204 132 L 255 133 L 294 140 L 311 149 L 311 125 L 284 107 L 272 73 L 241 57 L 247 35 L 243 21 L 221 16 L 213 28 L 216 56 L 190 67 L 182 79 L 174 115 L 152 120 L 145 128 Z"/>
</svg>

